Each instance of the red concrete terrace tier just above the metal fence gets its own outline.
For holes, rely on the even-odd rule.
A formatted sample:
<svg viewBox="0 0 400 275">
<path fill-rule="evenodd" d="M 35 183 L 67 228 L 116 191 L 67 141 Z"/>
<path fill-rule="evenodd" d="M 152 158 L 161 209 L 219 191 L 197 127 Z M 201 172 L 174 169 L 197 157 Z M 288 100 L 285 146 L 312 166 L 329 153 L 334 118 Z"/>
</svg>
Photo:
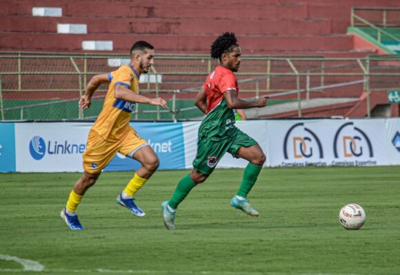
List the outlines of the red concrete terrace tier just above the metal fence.
<svg viewBox="0 0 400 275">
<path fill-rule="evenodd" d="M 3 50 L 69 52 L 81 51 L 82 41 L 113 41 L 114 52 L 127 52 L 132 43 L 146 40 L 159 52 L 208 54 L 215 36 L 208 35 L 137 35 L 137 34 L 43 34 L 0 33 Z M 351 50 L 351 36 L 239 36 L 243 54 L 271 52 L 316 52 Z M 46 41 L 46 42 L 44 42 Z"/>
</svg>

